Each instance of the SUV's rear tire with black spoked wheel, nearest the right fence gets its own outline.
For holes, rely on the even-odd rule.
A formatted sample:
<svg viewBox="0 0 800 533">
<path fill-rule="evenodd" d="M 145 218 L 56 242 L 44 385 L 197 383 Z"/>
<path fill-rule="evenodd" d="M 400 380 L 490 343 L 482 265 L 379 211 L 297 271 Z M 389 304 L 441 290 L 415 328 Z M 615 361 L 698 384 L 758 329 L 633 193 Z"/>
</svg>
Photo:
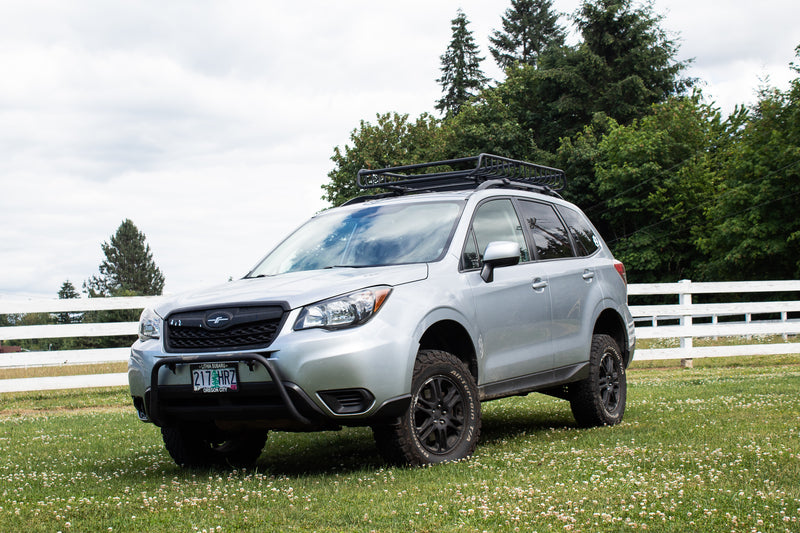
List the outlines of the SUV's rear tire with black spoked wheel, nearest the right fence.
<svg viewBox="0 0 800 533">
<path fill-rule="evenodd" d="M 578 425 L 613 426 L 622 422 L 627 398 L 625 363 L 608 335 L 592 336 L 589 376 L 571 384 L 570 407 Z"/>
</svg>

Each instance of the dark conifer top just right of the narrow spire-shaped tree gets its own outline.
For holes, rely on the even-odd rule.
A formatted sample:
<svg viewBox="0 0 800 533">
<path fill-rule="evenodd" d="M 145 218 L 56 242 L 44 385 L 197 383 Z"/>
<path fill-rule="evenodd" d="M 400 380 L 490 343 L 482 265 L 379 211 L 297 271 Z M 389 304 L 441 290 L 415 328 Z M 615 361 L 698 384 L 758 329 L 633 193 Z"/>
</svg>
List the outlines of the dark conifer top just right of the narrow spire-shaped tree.
<svg viewBox="0 0 800 533">
<path fill-rule="evenodd" d="M 536 67 L 539 56 L 564 45 L 564 27 L 558 24 L 552 0 L 511 0 L 502 17 L 503 30 L 489 37 L 495 62 L 503 69 L 516 63 Z"/>
</svg>

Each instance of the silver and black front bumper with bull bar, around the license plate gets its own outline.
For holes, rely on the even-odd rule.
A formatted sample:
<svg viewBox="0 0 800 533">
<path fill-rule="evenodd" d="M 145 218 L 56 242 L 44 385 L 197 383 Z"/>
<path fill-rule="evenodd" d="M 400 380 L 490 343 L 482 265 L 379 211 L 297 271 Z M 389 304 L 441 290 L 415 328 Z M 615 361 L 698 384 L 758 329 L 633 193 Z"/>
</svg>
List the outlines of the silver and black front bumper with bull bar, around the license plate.
<svg viewBox="0 0 800 533">
<path fill-rule="evenodd" d="M 377 320 L 339 331 L 287 325 L 267 350 L 216 354 L 165 353 L 159 340 L 137 341 L 128 365 L 131 395 L 139 418 L 159 426 L 370 425 L 400 416 L 410 401 L 416 344 L 400 331 Z M 194 391 L 190 365 L 210 362 L 237 363 L 237 391 Z"/>
</svg>

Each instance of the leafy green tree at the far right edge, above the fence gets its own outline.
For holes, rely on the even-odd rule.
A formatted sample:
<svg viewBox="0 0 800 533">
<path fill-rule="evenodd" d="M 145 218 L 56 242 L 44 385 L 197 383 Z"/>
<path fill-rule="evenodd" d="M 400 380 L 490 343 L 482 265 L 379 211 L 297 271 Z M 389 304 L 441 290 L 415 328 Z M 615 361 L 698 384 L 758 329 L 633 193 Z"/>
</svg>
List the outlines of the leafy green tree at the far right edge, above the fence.
<svg viewBox="0 0 800 533">
<path fill-rule="evenodd" d="M 800 74 L 800 66 L 792 68 Z M 800 77 L 788 91 L 762 90 L 722 160 L 708 231 L 697 239 L 710 256 L 705 276 L 800 277 Z"/>
</svg>

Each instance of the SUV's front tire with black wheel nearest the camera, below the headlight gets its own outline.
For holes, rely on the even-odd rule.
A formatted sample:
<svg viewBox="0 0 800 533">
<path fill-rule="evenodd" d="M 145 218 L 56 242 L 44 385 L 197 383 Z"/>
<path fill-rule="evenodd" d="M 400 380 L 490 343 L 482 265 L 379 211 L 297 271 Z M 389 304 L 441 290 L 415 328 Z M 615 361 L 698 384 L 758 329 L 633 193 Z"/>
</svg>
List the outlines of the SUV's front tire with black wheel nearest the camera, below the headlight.
<svg viewBox="0 0 800 533">
<path fill-rule="evenodd" d="M 372 431 L 386 461 L 419 466 L 469 457 L 480 429 L 478 387 L 464 363 L 447 352 L 420 350 L 408 410 Z"/>
</svg>

